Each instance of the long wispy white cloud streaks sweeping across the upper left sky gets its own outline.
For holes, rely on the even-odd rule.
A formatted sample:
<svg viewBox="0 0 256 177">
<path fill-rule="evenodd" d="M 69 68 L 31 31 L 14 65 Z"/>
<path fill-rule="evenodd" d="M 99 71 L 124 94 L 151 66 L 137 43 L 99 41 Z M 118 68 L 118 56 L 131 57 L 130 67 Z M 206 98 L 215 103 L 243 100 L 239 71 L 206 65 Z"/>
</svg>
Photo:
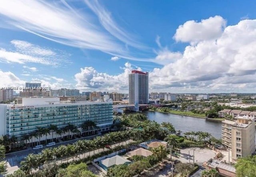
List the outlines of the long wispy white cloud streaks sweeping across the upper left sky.
<svg viewBox="0 0 256 177">
<path fill-rule="evenodd" d="M 85 4 L 96 14 L 101 25 L 95 24 L 95 18 L 92 18 L 92 12 L 89 10 L 78 13 L 78 10 L 65 0 L 60 2 L 2 0 L 0 19 L 3 24 L 7 23 L 9 26 L 64 45 L 100 50 L 130 60 L 154 62 L 152 59 L 134 57 L 135 54 L 129 52 L 127 45 L 136 50 L 144 46 L 133 40 L 134 36 L 118 26 L 110 12 L 98 1 L 85 1 Z M 17 44 L 16 41 L 13 43 L 19 47 L 26 45 Z M 47 52 L 47 50 L 40 52 Z"/>
</svg>

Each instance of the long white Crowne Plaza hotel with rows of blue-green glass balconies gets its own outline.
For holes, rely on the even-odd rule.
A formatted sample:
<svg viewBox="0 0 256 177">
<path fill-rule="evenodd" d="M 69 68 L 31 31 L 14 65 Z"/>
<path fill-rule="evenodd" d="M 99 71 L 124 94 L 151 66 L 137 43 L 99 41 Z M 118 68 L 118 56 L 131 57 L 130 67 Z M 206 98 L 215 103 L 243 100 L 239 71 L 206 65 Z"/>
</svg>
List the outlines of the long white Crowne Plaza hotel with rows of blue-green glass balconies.
<svg viewBox="0 0 256 177">
<path fill-rule="evenodd" d="M 85 121 L 94 121 L 99 131 L 109 130 L 113 124 L 113 103 L 60 103 L 58 97 L 32 97 L 22 98 L 22 105 L 0 104 L 0 135 L 20 138 L 37 127 L 52 124 L 63 128 L 69 123 L 81 131 Z"/>
</svg>

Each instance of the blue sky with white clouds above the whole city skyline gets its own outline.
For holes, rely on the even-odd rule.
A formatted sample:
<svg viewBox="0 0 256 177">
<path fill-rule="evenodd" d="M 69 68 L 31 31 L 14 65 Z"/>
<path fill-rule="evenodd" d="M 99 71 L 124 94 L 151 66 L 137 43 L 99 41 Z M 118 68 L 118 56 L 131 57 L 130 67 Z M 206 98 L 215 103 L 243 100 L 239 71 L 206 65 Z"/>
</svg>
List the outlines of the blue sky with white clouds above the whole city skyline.
<svg viewBox="0 0 256 177">
<path fill-rule="evenodd" d="M 3 0 L 0 86 L 255 92 L 256 4 L 204 0 Z"/>
</svg>

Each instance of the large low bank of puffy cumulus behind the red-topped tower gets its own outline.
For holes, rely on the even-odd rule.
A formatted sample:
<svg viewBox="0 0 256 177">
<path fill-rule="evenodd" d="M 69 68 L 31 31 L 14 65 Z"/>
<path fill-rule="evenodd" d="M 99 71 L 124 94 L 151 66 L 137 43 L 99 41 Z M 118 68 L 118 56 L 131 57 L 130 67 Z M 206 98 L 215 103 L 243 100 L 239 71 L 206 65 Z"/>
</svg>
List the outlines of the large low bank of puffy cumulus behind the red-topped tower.
<svg viewBox="0 0 256 177">
<path fill-rule="evenodd" d="M 218 17 L 219 18 L 219 17 Z M 204 22 L 202 20 L 202 22 Z M 151 91 L 254 92 L 256 88 L 256 20 L 242 20 L 227 26 L 220 36 L 199 37 L 184 52 L 162 48 L 156 60 L 164 64 L 149 72 Z M 128 90 L 128 74 L 133 68 L 126 63 L 118 75 L 100 73 L 92 67 L 81 68 L 75 75 L 77 87 L 97 90 Z M 125 87 L 124 87 L 125 86 Z"/>
</svg>

